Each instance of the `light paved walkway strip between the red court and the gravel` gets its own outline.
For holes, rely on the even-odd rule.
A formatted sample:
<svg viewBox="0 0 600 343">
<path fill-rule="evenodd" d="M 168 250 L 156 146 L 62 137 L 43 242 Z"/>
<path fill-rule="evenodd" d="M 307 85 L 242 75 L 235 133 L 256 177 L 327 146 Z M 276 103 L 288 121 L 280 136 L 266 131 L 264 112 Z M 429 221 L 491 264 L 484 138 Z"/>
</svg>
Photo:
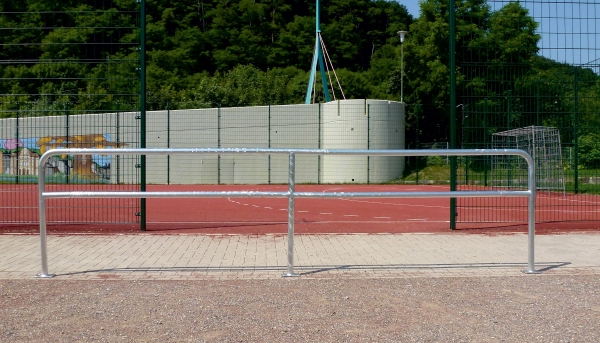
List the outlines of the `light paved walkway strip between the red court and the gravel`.
<svg viewBox="0 0 600 343">
<path fill-rule="evenodd" d="M 297 235 L 301 278 L 523 275 L 527 235 Z M 286 236 L 49 236 L 55 279 L 264 279 L 287 269 Z M 538 235 L 542 275 L 600 274 L 600 233 Z M 0 235 L 0 279 L 41 272 L 40 239 Z"/>
</svg>

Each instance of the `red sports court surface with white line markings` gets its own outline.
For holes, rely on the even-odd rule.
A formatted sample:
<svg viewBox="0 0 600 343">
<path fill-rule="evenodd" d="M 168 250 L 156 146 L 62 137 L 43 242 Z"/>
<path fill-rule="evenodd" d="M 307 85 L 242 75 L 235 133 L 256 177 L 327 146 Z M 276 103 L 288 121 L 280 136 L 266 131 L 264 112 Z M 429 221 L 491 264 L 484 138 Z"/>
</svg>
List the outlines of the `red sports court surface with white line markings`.
<svg viewBox="0 0 600 343">
<path fill-rule="evenodd" d="M 8 185 L 5 185 L 8 186 Z M 0 233 L 37 233 L 37 186 L 27 185 L 35 190 L 23 197 L 23 211 L 31 212 L 32 224 L 0 224 Z M 59 191 L 63 186 L 51 185 L 49 190 Z M 89 186 L 88 186 L 89 187 Z M 111 186 L 106 186 L 109 190 Z M 86 186 L 77 186 L 86 190 Z M 73 186 L 70 186 L 73 190 Z M 87 190 L 90 190 L 89 188 Z M 94 190 L 97 190 L 97 186 Z M 123 190 L 123 189 L 121 189 Z M 135 190 L 135 189 L 131 189 Z M 148 191 L 285 191 L 287 185 L 149 185 Z M 448 186 L 410 186 L 410 185 L 298 185 L 297 191 L 307 192 L 421 192 L 447 191 Z M 7 194 L 6 192 L 0 194 Z M 29 199 L 26 199 L 29 198 Z M 589 213 L 600 206 L 600 197 L 586 197 Z M 481 199 L 474 199 L 479 200 Z M 497 211 L 504 212 L 505 223 L 459 223 L 458 232 L 464 233 L 503 233 L 526 232 L 527 200 L 525 198 L 504 198 L 501 206 L 485 205 L 461 210 L 464 221 L 469 216 L 493 218 Z M 87 233 L 137 233 L 139 224 L 104 224 L 102 218 L 113 221 L 131 221 L 136 211 L 136 199 L 120 199 L 123 208 L 112 208 L 113 199 L 49 199 L 48 231 L 56 234 Z M 561 222 L 548 221 L 558 203 L 581 202 L 571 195 L 539 193 L 536 219 L 537 233 L 557 233 L 572 231 L 600 230 L 600 222 L 593 221 L 595 215 L 581 218 L 581 211 L 572 220 Z M 29 206 L 34 202 L 35 206 Z M 81 205 L 85 203 L 86 205 Z M 29 204 L 29 205 L 27 205 Z M 18 204 L 16 204 L 18 206 Z M 27 205 L 27 206 L 26 206 Z M 549 206 L 544 206 L 549 205 Z M 69 207 L 75 211 L 65 210 Z M 147 199 L 147 232 L 157 234 L 286 234 L 287 199 L 285 198 L 169 198 Z M 78 209 L 80 208 L 80 209 Z M 566 211 L 568 210 L 568 207 Z M 449 199 L 414 198 L 341 198 L 341 199 L 296 199 L 295 233 L 427 233 L 449 231 Z M 585 213 L 585 211 L 583 211 Z M 481 217 L 487 213 L 487 217 Z M 2 213 L 0 212 L 0 215 Z M 89 218 L 92 218 L 90 220 Z M 95 222 L 93 218 L 98 218 Z M 565 216 L 563 216 L 565 218 Z M 566 215 L 568 217 L 568 214 Z"/>
</svg>

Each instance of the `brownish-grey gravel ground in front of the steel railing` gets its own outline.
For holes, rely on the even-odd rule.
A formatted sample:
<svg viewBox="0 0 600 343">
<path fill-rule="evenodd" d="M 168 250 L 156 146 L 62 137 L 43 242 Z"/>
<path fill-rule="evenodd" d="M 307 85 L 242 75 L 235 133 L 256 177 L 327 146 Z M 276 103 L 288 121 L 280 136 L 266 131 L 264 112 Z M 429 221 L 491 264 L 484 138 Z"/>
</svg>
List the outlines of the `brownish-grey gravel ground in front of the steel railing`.
<svg viewBox="0 0 600 343">
<path fill-rule="evenodd" d="M 600 276 L 0 280 L 1 342 L 599 342 Z"/>
</svg>

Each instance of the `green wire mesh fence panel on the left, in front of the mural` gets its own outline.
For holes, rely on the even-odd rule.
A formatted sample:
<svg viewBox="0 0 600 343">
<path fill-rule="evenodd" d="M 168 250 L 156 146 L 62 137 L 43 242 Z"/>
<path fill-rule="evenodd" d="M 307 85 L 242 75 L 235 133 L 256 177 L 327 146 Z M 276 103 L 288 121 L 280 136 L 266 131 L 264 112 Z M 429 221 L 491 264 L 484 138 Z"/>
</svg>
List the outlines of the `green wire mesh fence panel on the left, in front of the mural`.
<svg viewBox="0 0 600 343">
<path fill-rule="evenodd" d="M 37 221 L 37 160 L 57 147 L 139 147 L 140 4 L 4 1 L 0 9 L 0 221 Z M 91 118 L 91 119 L 88 119 Z M 136 159 L 56 156 L 51 187 L 139 189 Z M 115 163 L 116 162 L 116 163 Z M 112 172 L 111 172 L 112 170 Z M 130 179 L 138 179 L 136 169 Z M 138 185 L 136 185 L 136 183 Z M 93 185 L 93 186 L 90 186 Z M 50 222 L 135 223 L 134 200 L 53 200 Z"/>
</svg>

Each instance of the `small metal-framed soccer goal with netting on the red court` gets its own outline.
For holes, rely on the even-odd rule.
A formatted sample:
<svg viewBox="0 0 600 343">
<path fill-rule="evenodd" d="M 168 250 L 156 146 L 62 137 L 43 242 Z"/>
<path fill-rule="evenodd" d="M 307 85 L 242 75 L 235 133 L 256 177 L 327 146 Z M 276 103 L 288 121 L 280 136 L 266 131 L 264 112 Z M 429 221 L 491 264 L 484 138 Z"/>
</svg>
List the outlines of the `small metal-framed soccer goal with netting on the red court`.
<svg viewBox="0 0 600 343">
<path fill-rule="evenodd" d="M 494 149 L 522 149 L 535 162 L 537 189 L 565 192 L 560 133 L 557 128 L 527 126 L 492 134 Z M 527 162 L 516 156 L 492 157 L 492 187 L 527 187 Z"/>
</svg>

